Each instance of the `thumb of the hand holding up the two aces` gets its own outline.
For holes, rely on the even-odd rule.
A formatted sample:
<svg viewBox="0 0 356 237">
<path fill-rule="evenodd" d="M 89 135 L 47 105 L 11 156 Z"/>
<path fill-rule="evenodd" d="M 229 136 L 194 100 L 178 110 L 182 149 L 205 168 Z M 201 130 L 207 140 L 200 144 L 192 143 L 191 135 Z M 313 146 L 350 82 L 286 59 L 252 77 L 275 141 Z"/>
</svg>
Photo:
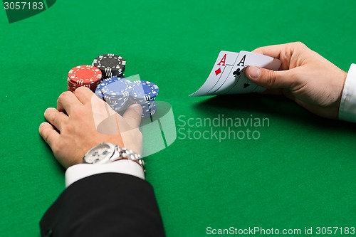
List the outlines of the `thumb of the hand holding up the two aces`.
<svg viewBox="0 0 356 237">
<path fill-rule="evenodd" d="M 288 70 L 276 71 L 256 66 L 248 66 L 245 74 L 253 83 L 261 85 L 263 88 L 290 89 L 293 84 L 293 80 L 291 80 L 290 75 L 288 75 Z"/>
</svg>

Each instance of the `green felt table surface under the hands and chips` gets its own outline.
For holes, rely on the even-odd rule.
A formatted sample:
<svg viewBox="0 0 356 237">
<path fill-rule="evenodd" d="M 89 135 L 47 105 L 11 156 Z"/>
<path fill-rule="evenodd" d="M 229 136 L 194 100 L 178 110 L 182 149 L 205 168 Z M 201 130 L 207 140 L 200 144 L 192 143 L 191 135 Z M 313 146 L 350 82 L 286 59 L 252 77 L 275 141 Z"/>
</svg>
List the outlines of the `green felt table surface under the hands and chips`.
<svg viewBox="0 0 356 237">
<path fill-rule="evenodd" d="M 188 97 L 221 50 L 302 41 L 347 71 L 356 63 L 355 9 L 352 0 L 57 1 L 11 24 L 0 11 L 0 236 L 39 236 L 64 170 L 38 125 L 66 90 L 68 70 L 103 53 L 123 56 L 125 74 L 157 83 L 157 100 L 172 105 L 177 139 L 146 159 L 167 236 L 206 236 L 209 226 L 355 226 L 355 125 L 278 96 Z M 192 122 L 219 116 L 268 123 L 212 127 L 240 138 L 257 131 L 251 139 L 199 139 L 211 127 Z"/>
</svg>

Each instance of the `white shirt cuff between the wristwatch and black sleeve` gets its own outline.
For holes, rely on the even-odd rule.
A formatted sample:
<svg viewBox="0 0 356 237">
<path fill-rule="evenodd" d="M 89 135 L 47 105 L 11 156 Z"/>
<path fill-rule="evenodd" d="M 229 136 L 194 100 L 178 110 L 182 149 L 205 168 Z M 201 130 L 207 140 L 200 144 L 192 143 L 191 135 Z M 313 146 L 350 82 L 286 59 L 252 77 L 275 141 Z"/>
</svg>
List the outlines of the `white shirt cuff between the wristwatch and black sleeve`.
<svg viewBox="0 0 356 237">
<path fill-rule="evenodd" d="M 66 171 L 66 188 L 79 179 L 102 173 L 130 174 L 145 179 L 145 173 L 140 164 L 127 159 L 109 164 L 75 164 Z"/>
</svg>

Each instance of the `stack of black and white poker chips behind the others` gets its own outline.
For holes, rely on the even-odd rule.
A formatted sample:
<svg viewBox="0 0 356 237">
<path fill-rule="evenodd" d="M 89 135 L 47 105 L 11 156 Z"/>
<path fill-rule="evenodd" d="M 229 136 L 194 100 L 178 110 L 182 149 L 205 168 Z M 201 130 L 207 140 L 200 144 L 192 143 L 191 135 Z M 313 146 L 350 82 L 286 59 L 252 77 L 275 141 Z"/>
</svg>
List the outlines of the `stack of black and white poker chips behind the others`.
<svg viewBox="0 0 356 237">
<path fill-rule="evenodd" d="M 93 60 L 93 66 L 101 70 L 103 79 L 112 77 L 125 78 L 125 65 L 124 58 L 112 53 L 100 55 Z"/>
</svg>

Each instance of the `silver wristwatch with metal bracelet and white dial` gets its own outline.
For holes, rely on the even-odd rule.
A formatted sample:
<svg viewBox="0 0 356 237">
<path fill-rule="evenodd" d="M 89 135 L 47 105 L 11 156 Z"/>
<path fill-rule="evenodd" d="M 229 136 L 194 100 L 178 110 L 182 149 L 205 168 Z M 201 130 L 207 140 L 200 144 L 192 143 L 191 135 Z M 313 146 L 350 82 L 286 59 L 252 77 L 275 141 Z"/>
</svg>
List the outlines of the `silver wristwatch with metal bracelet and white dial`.
<svg viewBox="0 0 356 237">
<path fill-rule="evenodd" d="M 121 159 L 132 160 L 140 164 L 143 172 L 145 172 L 145 162 L 141 159 L 140 154 L 133 152 L 125 147 L 119 147 L 117 144 L 108 142 L 100 143 L 85 153 L 83 157 L 84 164 L 108 164 Z"/>
</svg>

